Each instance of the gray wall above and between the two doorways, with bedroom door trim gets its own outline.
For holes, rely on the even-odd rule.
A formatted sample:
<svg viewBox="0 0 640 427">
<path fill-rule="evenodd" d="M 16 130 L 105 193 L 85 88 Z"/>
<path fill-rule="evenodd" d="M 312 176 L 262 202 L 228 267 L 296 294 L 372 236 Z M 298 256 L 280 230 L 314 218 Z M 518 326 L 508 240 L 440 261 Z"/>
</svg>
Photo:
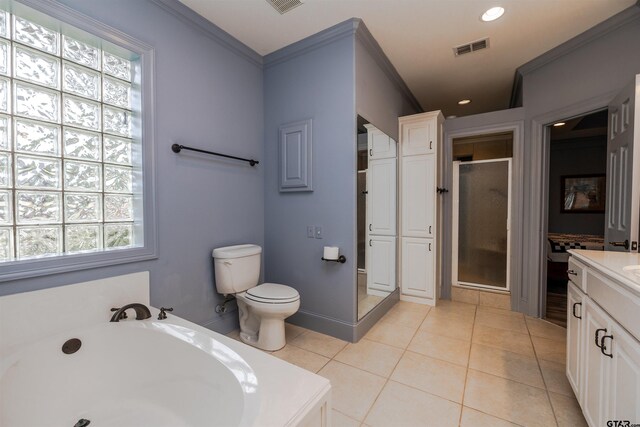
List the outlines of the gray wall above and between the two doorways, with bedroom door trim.
<svg viewBox="0 0 640 427">
<path fill-rule="evenodd" d="M 512 297 L 516 310 L 539 315 L 543 308 L 540 278 L 545 268 L 542 240 L 549 185 L 549 142 L 543 126 L 606 107 L 613 95 L 640 73 L 640 56 L 628 50 L 640 42 L 639 22 L 640 8 L 633 6 L 519 69 L 523 88 L 519 110 L 524 115 L 525 135 L 522 153 L 514 152 L 514 162 L 522 162 L 522 172 L 514 175 L 514 183 L 523 186 L 524 197 L 522 210 L 514 218 L 521 222 L 514 230 L 521 237 L 514 242 L 517 246 L 512 246 L 522 252 L 514 266 L 521 270 L 516 283 L 521 295 Z M 496 124 L 494 119 L 478 115 L 447 120 L 446 129 L 472 128 L 485 120 Z"/>
</svg>

